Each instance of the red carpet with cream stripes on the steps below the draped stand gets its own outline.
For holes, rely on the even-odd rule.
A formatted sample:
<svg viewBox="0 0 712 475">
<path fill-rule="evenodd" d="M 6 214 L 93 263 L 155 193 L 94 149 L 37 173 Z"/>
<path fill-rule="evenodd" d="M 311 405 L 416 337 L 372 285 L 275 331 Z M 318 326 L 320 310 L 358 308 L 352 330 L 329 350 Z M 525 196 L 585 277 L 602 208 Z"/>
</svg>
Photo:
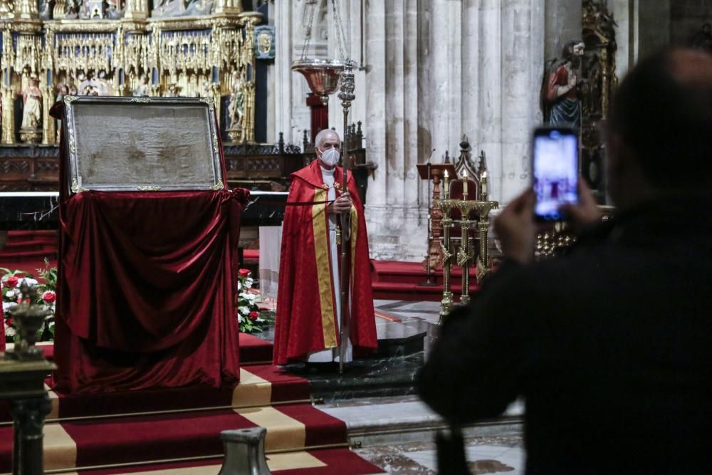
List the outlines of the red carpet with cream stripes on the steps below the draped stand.
<svg viewBox="0 0 712 475">
<path fill-rule="evenodd" d="M 120 474 L 165 469 L 169 474 L 194 463 L 208 470 L 207 465 L 221 464 L 221 431 L 266 427 L 266 451 L 277 466 L 320 470 L 281 473 L 381 473 L 344 449 L 344 422 L 303 402 L 309 398 L 307 380 L 271 365 L 243 369 L 241 383 L 234 388 L 50 395 L 52 413 L 44 430 L 46 470 L 103 467 L 82 473 Z M 6 422 L 0 427 L 0 471 L 11 470 L 11 451 L 12 427 Z M 214 460 L 195 461 L 197 457 Z M 185 460 L 162 467 L 164 461 L 175 459 Z M 117 464 L 139 465 L 107 467 Z M 341 464 L 352 471 L 342 471 Z"/>
</svg>

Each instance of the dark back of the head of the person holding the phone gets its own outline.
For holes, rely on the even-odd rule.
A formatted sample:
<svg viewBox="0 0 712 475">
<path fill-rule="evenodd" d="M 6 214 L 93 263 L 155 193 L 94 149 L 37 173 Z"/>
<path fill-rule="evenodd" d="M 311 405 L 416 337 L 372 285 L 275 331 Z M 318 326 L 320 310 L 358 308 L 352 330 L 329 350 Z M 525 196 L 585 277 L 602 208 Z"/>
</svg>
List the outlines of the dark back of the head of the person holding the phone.
<svg viewBox="0 0 712 475">
<path fill-rule="evenodd" d="M 712 56 L 665 48 L 640 61 L 612 100 L 609 128 L 655 187 L 712 184 Z"/>
</svg>

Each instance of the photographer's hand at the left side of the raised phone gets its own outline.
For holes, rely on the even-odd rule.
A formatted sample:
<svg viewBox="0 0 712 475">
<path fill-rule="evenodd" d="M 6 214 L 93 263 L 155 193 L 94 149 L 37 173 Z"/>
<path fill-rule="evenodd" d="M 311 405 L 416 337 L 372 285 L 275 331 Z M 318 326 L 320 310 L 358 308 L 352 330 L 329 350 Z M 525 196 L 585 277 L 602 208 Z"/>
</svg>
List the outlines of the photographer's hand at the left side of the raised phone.
<svg viewBox="0 0 712 475">
<path fill-rule="evenodd" d="M 534 259 L 535 203 L 536 194 L 528 189 L 513 199 L 494 220 L 494 230 L 502 246 L 502 254 L 513 261 L 529 263 Z"/>
</svg>

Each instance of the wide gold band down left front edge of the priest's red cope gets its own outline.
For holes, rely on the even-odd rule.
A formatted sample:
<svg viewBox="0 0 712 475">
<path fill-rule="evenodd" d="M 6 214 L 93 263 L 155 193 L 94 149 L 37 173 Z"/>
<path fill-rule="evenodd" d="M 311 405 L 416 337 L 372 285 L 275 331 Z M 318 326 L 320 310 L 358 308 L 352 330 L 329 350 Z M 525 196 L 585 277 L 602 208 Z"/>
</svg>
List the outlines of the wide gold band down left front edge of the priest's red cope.
<svg viewBox="0 0 712 475">
<path fill-rule="evenodd" d="M 315 189 L 314 201 L 323 202 L 328 190 Z M 316 256 L 316 273 L 319 286 L 319 302 L 321 305 L 321 328 L 324 333 L 324 348 L 335 348 L 336 327 L 334 313 L 334 297 L 331 287 L 331 263 L 329 261 L 329 239 L 326 226 L 326 204 L 315 204 L 312 207 L 312 223 L 314 226 L 314 254 Z"/>
</svg>

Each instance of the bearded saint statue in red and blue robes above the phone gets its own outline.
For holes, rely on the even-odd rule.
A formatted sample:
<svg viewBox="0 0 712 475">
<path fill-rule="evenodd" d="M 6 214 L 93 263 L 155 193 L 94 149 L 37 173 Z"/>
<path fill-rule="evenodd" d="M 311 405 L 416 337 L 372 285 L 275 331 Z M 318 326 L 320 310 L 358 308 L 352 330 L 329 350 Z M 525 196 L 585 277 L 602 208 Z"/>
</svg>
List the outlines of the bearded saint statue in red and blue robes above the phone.
<svg viewBox="0 0 712 475">
<path fill-rule="evenodd" d="M 580 40 L 565 44 L 560 61 L 549 61 L 545 68 L 541 88 L 541 107 L 544 120 L 559 127 L 581 127 L 579 67 L 584 53 Z"/>
</svg>

